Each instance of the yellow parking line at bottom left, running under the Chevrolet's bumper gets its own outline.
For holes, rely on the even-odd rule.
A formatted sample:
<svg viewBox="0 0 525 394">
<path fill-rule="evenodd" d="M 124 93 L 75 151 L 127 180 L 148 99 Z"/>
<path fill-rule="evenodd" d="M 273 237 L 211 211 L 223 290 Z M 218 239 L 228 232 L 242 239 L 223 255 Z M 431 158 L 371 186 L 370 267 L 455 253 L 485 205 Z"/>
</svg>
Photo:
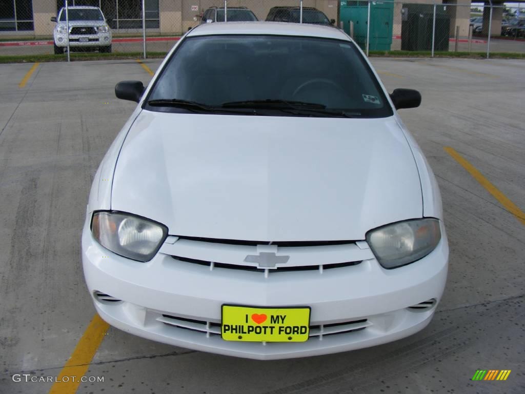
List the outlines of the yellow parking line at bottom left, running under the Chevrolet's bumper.
<svg viewBox="0 0 525 394">
<path fill-rule="evenodd" d="M 98 314 L 93 317 L 71 357 L 60 371 L 53 387 L 49 390 L 49 394 L 74 394 L 77 391 L 81 383 L 80 379 L 86 374 L 108 328 L 109 324 L 104 322 Z M 72 379 L 72 376 L 76 378 Z"/>
</svg>

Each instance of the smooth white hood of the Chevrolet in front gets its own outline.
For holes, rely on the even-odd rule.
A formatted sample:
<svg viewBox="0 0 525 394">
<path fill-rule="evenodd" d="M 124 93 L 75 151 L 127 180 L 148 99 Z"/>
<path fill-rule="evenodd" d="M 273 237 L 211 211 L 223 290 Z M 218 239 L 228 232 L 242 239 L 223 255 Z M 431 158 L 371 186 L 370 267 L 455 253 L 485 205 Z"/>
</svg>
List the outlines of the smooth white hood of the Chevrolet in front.
<svg viewBox="0 0 525 394">
<path fill-rule="evenodd" d="M 142 111 L 114 172 L 111 209 L 172 235 L 363 240 L 421 217 L 421 183 L 393 117 L 264 117 Z"/>
</svg>

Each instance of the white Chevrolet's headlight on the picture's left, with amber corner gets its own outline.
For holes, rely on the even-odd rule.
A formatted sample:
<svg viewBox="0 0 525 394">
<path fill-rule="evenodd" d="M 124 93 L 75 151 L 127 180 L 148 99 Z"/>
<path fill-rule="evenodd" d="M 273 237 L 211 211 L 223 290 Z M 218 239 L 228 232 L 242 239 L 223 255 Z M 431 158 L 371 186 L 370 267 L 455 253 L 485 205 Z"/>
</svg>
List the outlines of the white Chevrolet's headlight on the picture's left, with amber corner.
<svg viewBox="0 0 525 394">
<path fill-rule="evenodd" d="M 167 227 L 124 212 L 95 212 L 93 237 L 111 252 L 132 260 L 150 261 L 167 236 Z"/>
</svg>

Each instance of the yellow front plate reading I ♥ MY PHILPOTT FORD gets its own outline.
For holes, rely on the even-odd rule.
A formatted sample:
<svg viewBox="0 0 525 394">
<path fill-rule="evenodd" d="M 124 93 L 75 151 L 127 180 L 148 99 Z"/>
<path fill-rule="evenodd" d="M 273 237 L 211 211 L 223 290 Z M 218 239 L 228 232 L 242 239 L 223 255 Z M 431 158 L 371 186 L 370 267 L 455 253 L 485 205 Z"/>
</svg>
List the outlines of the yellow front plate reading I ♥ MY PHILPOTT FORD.
<svg viewBox="0 0 525 394">
<path fill-rule="evenodd" d="M 223 305 L 224 340 L 304 342 L 310 332 L 310 308 L 253 308 Z"/>
</svg>

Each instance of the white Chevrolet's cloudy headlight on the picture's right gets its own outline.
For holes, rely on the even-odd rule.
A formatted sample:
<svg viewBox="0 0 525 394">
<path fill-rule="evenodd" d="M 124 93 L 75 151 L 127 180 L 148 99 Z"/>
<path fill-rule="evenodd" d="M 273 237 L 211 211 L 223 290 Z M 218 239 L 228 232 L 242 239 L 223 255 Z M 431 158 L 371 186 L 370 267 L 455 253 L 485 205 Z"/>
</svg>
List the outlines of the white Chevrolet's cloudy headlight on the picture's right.
<svg viewBox="0 0 525 394">
<path fill-rule="evenodd" d="M 440 240 L 439 220 L 432 218 L 388 224 L 366 233 L 366 241 L 384 268 L 413 263 L 432 252 Z"/>
</svg>

